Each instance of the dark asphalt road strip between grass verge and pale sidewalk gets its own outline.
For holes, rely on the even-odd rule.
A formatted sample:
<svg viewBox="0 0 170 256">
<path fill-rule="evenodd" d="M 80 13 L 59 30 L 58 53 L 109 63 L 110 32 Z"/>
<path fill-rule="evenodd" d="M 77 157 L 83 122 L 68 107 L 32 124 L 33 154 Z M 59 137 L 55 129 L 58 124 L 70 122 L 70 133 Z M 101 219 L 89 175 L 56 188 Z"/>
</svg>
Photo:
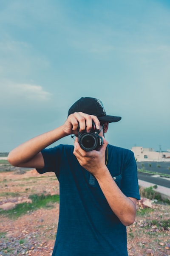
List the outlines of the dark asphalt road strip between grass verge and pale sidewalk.
<svg viewBox="0 0 170 256">
<path fill-rule="evenodd" d="M 155 176 L 155 177 L 154 177 Z M 156 185 L 164 186 L 170 188 L 170 178 L 157 177 L 158 175 L 151 175 L 147 173 L 138 172 L 138 179 L 144 180 Z"/>
</svg>

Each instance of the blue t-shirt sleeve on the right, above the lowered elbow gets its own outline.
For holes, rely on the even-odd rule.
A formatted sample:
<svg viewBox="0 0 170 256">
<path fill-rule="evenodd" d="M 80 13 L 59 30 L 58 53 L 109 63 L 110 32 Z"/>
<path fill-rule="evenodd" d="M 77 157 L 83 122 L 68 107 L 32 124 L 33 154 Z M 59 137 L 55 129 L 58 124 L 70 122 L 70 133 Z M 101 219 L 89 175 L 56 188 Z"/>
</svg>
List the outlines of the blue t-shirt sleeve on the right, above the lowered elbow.
<svg viewBox="0 0 170 256">
<path fill-rule="evenodd" d="M 127 151 L 122 170 L 121 190 L 127 197 L 140 199 L 137 166 L 132 151 Z"/>
</svg>

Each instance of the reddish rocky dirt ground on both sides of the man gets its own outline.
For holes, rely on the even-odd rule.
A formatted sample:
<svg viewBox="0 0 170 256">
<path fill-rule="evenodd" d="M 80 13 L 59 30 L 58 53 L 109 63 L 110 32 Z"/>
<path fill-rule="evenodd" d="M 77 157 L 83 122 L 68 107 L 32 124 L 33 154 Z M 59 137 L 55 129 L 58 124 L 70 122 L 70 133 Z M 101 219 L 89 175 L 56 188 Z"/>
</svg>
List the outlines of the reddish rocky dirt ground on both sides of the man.
<svg viewBox="0 0 170 256">
<path fill-rule="evenodd" d="M 31 194 L 59 194 L 53 173 L 16 173 L 19 172 L 0 173 L 0 208 L 4 211 L 28 202 Z M 139 209 L 136 221 L 127 227 L 129 256 L 170 256 L 170 227 L 162 227 L 160 222 L 170 219 L 170 206 L 153 204 L 151 209 L 144 214 Z M 59 203 L 52 209 L 38 209 L 14 220 L 0 215 L 0 256 L 51 256 L 58 217 Z"/>
</svg>

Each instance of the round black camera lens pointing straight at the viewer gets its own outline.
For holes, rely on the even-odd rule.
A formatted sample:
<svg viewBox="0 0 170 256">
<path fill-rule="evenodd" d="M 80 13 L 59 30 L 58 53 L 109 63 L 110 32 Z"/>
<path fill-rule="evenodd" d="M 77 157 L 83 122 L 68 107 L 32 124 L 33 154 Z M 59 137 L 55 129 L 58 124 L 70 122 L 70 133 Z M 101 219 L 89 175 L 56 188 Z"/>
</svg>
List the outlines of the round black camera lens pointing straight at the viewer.
<svg viewBox="0 0 170 256">
<path fill-rule="evenodd" d="M 79 144 L 85 151 L 94 150 L 98 145 L 95 134 L 84 133 L 79 136 Z"/>
</svg>

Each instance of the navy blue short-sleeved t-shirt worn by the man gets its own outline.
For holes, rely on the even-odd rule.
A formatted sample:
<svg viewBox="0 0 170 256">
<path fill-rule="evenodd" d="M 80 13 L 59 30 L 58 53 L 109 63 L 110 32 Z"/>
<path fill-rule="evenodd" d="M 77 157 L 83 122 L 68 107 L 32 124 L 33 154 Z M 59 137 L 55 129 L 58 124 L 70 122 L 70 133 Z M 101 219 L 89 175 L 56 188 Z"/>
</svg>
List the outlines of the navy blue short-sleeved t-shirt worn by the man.
<svg viewBox="0 0 170 256">
<path fill-rule="evenodd" d="M 42 150 L 45 167 L 37 169 L 41 174 L 55 172 L 59 180 L 59 223 L 52 256 L 127 256 L 126 227 L 73 150 L 73 145 Z M 127 197 L 140 199 L 132 151 L 108 145 L 107 167 Z"/>
</svg>

